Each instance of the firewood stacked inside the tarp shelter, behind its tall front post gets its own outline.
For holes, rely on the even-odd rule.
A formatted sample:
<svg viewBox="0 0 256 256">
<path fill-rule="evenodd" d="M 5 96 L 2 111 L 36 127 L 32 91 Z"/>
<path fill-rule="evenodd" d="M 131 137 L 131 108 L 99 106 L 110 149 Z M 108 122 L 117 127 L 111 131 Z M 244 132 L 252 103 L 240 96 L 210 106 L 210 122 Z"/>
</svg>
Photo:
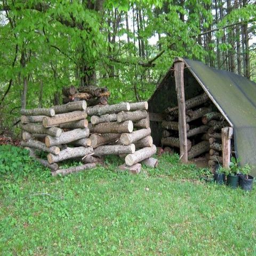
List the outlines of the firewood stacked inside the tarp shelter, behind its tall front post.
<svg viewBox="0 0 256 256">
<path fill-rule="evenodd" d="M 219 142 L 221 141 L 221 134 L 217 132 L 222 127 L 227 126 L 227 122 L 215 109 L 206 94 L 187 100 L 185 106 L 188 159 L 205 154 L 211 165 L 217 159 L 220 161 L 221 144 Z M 178 107 L 167 108 L 164 115 L 162 145 L 179 148 Z"/>
</svg>

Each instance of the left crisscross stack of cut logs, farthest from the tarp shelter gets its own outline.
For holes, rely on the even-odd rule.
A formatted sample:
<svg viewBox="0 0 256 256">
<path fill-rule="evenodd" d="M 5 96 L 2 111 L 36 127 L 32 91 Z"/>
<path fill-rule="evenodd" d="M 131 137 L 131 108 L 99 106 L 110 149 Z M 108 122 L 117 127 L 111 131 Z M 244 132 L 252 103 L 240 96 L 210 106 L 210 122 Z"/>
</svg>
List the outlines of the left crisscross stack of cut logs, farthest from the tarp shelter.
<svg viewBox="0 0 256 256">
<path fill-rule="evenodd" d="M 87 128 L 86 101 L 70 102 L 52 108 L 21 109 L 21 146 L 52 170 L 52 175 L 67 174 L 94 167 L 95 164 L 60 169 L 59 163 L 67 159 L 93 154 L 90 131 Z M 48 153 L 47 160 L 37 153 Z M 42 155 L 42 154 L 41 154 Z"/>
</svg>

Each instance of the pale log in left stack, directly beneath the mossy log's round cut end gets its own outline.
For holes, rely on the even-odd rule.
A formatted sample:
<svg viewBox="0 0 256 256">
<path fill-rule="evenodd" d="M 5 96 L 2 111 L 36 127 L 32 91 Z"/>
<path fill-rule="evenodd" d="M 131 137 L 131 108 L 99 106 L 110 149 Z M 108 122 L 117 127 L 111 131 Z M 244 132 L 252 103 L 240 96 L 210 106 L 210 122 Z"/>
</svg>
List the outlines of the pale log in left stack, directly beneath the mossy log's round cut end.
<svg viewBox="0 0 256 256">
<path fill-rule="evenodd" d="M 88 128 L 85 129 L 75 129 L 68 132 L 62 132 L 60 137 L 55 138 L 52 136 L 46 136 L 45 137 L 45 145 L 47 147 L 51 146 L 58 146 L 61 144 L 67 144 L 72 141 L 76 141 L 79 139 L 87 138 L 90 134 L 90 131 Z"/>
</svg>

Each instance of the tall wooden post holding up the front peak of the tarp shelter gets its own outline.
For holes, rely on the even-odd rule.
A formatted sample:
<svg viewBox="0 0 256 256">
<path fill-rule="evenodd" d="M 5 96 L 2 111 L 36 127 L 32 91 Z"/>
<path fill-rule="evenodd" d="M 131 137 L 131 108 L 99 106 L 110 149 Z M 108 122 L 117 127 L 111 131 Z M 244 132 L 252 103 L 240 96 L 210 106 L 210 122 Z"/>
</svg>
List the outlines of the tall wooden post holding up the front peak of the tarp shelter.
<svg viewBox="0 0 256 256">
<path fill-rule="evenodd" d="M 183 163 L 188 162 L 187 145 L 187 124 L 186 124 L 186 105 L 184 92 L 184 62 L 181 58 L 174 60 L 175 87 L 177 92 L 179 108 L 179 140 L 180 140 L 180 159 Z"/>
</svg>

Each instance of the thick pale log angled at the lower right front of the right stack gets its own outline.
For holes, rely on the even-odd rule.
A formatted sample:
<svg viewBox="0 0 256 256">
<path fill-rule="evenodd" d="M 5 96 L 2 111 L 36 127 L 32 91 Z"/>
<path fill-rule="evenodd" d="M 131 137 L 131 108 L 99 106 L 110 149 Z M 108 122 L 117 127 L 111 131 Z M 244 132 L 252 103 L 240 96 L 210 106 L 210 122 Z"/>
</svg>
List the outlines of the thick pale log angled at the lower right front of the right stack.
<svg viewBox="0 0 256 256">
<path fill-rule="evenodd" d="M 125 157 L 125 163 L 129 166 L 137 164 L 152 155 L 156 154 L 156 146 L 142 148 L 140 150 L 135 151 L 133 154 L 129 154 Z"/>
</svg>

